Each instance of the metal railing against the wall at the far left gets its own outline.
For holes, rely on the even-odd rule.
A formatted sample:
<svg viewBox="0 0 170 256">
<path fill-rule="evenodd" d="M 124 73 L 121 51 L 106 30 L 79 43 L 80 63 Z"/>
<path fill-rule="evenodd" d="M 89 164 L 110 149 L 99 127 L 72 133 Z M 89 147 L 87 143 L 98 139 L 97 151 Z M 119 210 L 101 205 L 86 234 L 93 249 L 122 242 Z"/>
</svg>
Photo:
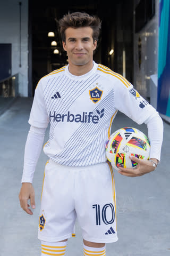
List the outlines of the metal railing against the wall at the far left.
<svg viewBox="0 0 170 256">
<path fill-rule="evenodd" d="M 15 98 L 19 95 L 20 73 L 0 81 L 0 98 Z"/>
</svg>

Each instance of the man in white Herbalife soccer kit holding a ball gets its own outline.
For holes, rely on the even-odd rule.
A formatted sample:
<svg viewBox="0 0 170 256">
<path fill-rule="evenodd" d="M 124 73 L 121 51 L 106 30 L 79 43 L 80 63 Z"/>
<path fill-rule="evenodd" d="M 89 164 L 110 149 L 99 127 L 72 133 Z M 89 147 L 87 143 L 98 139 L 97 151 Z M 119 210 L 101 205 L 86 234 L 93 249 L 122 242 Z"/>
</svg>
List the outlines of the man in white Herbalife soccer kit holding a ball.
<svg viewBox="0 0 170 256">
<path fill-rule="evenodd" d="M 69 65 L 41 78 L 30 113 L 25 145 L 20 203 L 35 208 L 33 173 L 50 122 L 38 238 L 41 255 L 64 255 L 75 219 L 82 229 L 84 255 L 105 255 L 105 243 L 117 241 L 116 198 L 112 166 L 105 146 L 117 110 L 148 126 L 150 160 L 132 157 L 135 169 L 120 173 L 136 177 L 154 171 L 160 160 L 163 122 L 121 75 L 93 61 L 101 22 L 75 12 L 60 20 L 63 49 Z"/>
</svg>

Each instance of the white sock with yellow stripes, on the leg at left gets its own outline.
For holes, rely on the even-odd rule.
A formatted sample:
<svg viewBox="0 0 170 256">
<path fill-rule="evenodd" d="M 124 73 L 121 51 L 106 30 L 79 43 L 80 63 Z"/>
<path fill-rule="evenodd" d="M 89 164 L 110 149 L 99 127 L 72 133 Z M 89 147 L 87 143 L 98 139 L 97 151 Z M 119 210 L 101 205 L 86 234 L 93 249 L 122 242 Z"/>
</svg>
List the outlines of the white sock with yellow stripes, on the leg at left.
<svg viewBox="0 0 170 256">
<path fill-rule="evenodd" d="M 61 256 L 65 254 L 66 242 L 44 242 L 41 241 L 41 256 L 54 255 Z"/>
</svg>

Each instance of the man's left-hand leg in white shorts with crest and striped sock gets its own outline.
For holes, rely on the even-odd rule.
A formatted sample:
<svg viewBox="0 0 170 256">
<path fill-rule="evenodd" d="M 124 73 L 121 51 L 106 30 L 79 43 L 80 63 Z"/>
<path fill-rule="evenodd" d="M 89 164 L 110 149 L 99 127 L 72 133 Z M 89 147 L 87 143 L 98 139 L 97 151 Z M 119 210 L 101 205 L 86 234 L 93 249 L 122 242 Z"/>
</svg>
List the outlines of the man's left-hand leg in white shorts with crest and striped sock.
<svg viewBox="0 0 170 256">
<path fill-rule="evenodd" d="M 72 172 L 49 161 L 45 169 L 39 217 L 41 256 L 65 253 L 67 238 L 72 236 L 76 218 L 73 185 Z"/>
</svg>

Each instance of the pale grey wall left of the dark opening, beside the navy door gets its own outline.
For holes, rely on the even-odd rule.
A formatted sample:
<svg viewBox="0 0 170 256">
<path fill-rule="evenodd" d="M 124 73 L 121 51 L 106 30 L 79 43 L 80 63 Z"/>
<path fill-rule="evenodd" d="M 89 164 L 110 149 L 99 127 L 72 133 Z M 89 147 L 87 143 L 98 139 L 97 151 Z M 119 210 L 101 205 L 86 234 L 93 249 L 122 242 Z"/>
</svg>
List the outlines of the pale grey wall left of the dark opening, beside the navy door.
<svg viewBox="0 0 170 256">
<path fill-rule="evenodd" d="M 0 43 L 12 44 L 12 75 L 20 73 L 19 94 L 28 96 L 28 0 L 21 5 L 21 67 L 20 6 L 18 0 L 0 0 Z"/>
</svg>

